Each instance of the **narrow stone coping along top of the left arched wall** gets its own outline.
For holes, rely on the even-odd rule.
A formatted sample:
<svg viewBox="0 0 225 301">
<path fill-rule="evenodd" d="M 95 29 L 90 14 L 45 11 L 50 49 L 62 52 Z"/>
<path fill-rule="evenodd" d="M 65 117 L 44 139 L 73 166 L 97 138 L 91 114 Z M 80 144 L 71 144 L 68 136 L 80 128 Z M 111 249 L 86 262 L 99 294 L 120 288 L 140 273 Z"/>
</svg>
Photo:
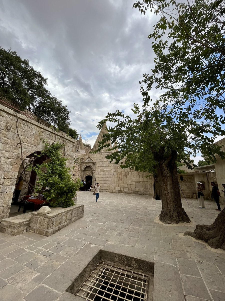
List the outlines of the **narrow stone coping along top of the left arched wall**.
<svg viewBox="0 0 225 301">
<path fill-rule="evenodd" d="M 26 122 L 34 124 L 35 126 L 38 126 L 39 128 L 44 129 L 45 131 L 48 131 L 48 132 L 52 133 L 53 135 L 56 134 L 56 136 L 60 136 L 60 137 L 64 138 L 65 140 L 73 142 L 74 144 L 77 143 L 77 140 L 75 140 L 73 138 L 70 138 L 69 136 L 67 136 L 66 133 L 64 133 L 64 135 L 63 135 L 63 132 L 55 132 L 55 131 L 53 131 L 53 129 L 48 128 L 47 126 L 44 126 L 43 124 L 41 124 L 41 123 L 39 123 L 39 122 L 37 122 L 37 121 L 35 121 L 33 119 L 30 119 L 30 118 L 28 118 L 28 117 L 26 117 L 26 116 L 24 116 L 22 114 L 15 113 L 13 110 L 11 110 L 11 109 L 9 109 L 7 107 L 4 107 L 1 104 L 0 104 L 0 110 L 4 111 L 4 112 L 6 112 L 6 113 L 8 113 L 8 114 L 10 114 L 12 116 L 15 116 L 15 117 L 18 116 L 19 119 L 22 119 L 22 120 L 24 120 Z"/>
</svg>

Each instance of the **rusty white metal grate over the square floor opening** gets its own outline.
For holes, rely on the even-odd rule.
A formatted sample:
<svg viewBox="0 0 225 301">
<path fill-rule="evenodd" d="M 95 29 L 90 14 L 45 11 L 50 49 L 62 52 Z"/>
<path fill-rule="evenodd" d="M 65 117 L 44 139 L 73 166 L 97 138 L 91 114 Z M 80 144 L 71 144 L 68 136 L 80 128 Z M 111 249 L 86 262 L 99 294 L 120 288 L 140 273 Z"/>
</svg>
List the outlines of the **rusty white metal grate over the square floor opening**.
<svg viewBox="0 0 225 301">
<path fill-rule="evenodd" d="M 146 301 L 148 280 L 147 275 L 99 262 L 76 295 L 91 301 Z"/>
</svg>

